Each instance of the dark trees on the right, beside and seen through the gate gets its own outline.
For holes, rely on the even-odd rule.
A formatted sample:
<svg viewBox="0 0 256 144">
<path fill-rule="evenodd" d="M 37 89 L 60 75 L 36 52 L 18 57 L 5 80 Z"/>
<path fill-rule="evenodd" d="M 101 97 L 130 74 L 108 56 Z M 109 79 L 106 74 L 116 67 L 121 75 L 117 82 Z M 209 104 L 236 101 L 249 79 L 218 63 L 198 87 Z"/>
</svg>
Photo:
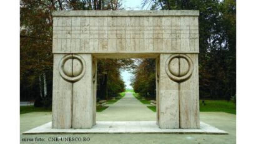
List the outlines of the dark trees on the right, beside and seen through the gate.
<svg viewBox="0 0 256 144">
<path fill-rule="evenodd" d="M 199 16 L 199 91 L 200 98 L 227 99 L 236 92 L 236 2 L 235 0 L 144 0 L 151 9 L 198 9 Z M 147 94 L 155 84 L 150 60 L 143 60 L 133 87 Z M 148 74 L 151 72 L 152 74 Z M 145 77 L 144 75 L 148 75 Z M 149 84 L 152 82 L 152 84 Z M 142 84 L 143 83 L 143 84 Z M 154 84 L 153 84 L 154 83 Z"/>
</svg>

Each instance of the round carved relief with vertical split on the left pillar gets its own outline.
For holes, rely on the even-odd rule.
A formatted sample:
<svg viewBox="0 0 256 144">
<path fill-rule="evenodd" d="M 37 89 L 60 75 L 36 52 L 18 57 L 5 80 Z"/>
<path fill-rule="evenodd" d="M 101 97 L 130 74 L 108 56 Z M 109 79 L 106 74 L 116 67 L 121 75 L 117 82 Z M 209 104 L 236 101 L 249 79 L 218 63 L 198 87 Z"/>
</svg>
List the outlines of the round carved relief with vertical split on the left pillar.
<svg viewBox="0 0 256 144">
<path fill-rule="evenodd" d="M 65 55 L 59 62 L 59 74 L 69 82 L 77 82 L 86 72 L 86 62 L 80 55 Z"/>
</svg>

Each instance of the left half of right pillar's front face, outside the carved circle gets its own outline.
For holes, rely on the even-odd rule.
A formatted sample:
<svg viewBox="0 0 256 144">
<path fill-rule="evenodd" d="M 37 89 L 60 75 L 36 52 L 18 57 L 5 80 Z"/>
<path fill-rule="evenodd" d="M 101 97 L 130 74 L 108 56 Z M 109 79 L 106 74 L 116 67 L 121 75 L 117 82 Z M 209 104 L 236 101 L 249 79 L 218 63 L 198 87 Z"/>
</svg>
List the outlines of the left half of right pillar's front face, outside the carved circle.
<svg viewBox="0 0 256 144">
<path fill-rule="evenodd" d="M 179 128 L 179 84 L 169 79 L 165 62 L 170 54 L 160 54 L 159 127 Z"/>
</svg>

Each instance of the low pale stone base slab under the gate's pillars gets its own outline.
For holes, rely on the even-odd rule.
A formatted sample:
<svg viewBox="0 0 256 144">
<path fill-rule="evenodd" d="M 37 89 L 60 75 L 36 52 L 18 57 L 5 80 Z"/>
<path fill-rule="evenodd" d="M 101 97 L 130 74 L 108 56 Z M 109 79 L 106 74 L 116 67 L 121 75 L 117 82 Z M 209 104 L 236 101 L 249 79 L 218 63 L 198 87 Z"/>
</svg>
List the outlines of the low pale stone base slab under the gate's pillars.
<svg viewBox="0 0 256 144">
<path fill-rule="evenodd" d="M 23 134 L 59 134 L 59 133 L 172 133 L 172 134 L 215 134 L 227 135 L 224 130 L 200 122 L 200 129 L 160 129 L 155 121 L 100 121 L 91 129 L 52 129 L 51 122 L 28 130 Z"/>
</svg>

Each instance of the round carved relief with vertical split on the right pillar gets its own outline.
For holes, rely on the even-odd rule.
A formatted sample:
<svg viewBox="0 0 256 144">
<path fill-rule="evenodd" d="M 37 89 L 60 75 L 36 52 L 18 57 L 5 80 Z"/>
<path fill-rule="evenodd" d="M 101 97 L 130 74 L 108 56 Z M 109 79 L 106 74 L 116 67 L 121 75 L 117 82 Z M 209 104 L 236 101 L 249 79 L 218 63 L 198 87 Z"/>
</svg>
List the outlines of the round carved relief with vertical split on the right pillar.
<svg viewBox="0 0 256 144">
<path fill-rule="evenodd" d="M 165 63 L 165 71 L 175 82 L 184 82 L 192 74 L 192 60 L 185 54 L 170 55 Z"/>
</svg>

